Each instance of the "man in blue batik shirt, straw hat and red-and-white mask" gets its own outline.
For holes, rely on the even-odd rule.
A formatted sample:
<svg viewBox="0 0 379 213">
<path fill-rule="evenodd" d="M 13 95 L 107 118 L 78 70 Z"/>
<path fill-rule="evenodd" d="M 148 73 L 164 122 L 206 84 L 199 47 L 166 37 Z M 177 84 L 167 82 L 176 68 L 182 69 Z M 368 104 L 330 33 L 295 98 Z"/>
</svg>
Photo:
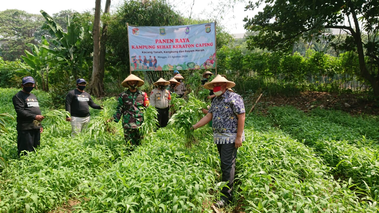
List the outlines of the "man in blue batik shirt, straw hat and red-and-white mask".
<svg viewBox="0 0 379 213">
<path fill-rule="evenodd" d="M 216 207 L 224 207 L 233 199 L 233 183 L 235 161 L 238 147 L 245 140 L 245 107 L 243 99 L 228 89 L 235 86 L 232 81 L 217 75 L 211 82 L 205 83 L 204 88 L 213 89 L 216 97 L 213 99 L 208 114 L 191 128 L 196 129 L 213 121 L 213 141 L 217 144 L 221 160 L 222 181 L 228 182 L 221 190 L 221 199 Z"/>
</svg>

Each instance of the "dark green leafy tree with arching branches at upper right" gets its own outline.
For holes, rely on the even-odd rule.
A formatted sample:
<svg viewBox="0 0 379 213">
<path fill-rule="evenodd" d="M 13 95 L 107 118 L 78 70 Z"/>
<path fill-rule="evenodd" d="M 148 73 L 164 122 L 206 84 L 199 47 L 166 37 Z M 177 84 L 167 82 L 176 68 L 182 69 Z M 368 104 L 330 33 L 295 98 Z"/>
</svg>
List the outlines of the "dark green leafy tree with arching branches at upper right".
<svg viewBox="0 0 379 213">
<path fill-rule="evenodd" d="M 263 2 L 251 2 L 246 8 L 257 9 Z M 257 36 L 249 38 L 251 47 L 290 51 L 301 37 L 307 41 L 312 38 L 318 41 L 319 36 L 327 35 L 327 28 L 346 31 L 349 36 L 338 47 L 357 52 L 360 68 L 357 75 L 370 82 L 374 94 L 379 96 L 379 73 L 378 69 L 374 69 L 379 64 L 377 1 L 269 0 L 265 3 L 262 12 L 244 19 L 247 30 L 259 32 Z M 333 35 L 327 36 L 329 41 L 333 38 Z M 365 55 L 371 62 L 370 69 Z"/>
</svg>

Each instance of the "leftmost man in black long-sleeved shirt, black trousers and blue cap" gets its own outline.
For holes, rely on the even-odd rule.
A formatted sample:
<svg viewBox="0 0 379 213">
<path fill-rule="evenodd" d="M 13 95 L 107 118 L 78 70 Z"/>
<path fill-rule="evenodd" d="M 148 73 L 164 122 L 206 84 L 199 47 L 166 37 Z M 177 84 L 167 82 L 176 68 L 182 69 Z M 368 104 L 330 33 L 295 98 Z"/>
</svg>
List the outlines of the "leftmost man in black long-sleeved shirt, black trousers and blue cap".
<svg viewBox="0 0 379 213">
<path fill-rule="evenodd" d="M 13 106 L 17 113 L 17 150 L 18 155 L 26 155 L 33 152 L 34 148 L 40 145 L 43 127 L 41 121 L 45 118 L 41 115 L 37 97 L 30 92 L 33 90 L 35 82 L 33 77 L 22 78 L 22 90 L 13 96 Z"/>
</svg>

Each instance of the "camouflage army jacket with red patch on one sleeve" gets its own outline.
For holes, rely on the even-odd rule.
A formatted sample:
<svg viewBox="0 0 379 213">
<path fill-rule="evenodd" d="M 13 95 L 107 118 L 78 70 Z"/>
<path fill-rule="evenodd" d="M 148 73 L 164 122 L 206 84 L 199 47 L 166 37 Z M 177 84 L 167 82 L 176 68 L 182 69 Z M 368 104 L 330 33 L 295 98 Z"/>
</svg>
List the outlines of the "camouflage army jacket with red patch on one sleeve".
<svg viewBox="0 0 379 213">
<path fill-rule="evenodd" d="M 121 92 L 117 98 L 116 113 L 113 118 L 115 122 L 119 122 L 122 115 L 122 126 L 124 128 L 138 128 L 143 123 L 144 107 L 149 106 L 149 98 L 146 92 L 139 91 L 130 92 L 126 90 Z"/>
</svg>

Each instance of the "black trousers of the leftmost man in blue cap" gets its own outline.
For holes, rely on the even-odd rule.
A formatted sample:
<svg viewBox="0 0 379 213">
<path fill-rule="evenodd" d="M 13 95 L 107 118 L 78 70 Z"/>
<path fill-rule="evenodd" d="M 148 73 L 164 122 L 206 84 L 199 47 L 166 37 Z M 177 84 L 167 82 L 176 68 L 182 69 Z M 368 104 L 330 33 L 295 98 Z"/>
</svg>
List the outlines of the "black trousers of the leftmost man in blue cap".
<svg viewBox="0 0 379 213">
<path fill-rule="evenodd" d="M 34 152 L 34 148 L 40 145 L 41 133 L 38 129 L 17 130 L 17 150 L 20 157 L 21 152 L 26 155 L 25 151 Z"/>
</svg>

